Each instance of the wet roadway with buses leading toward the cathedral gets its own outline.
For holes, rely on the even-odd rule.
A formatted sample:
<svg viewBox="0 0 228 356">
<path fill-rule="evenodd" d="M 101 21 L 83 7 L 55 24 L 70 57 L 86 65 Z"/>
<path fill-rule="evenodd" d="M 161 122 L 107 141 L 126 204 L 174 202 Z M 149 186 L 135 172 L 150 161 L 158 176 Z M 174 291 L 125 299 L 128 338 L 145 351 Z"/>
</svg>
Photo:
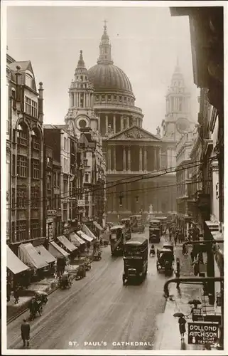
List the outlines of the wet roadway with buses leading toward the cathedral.
<svg viewBox="0 0 228 356">
<path fill-rule="evenodd" d="M 86 278 L 50 295 L 43 315 L 31 323 L 31 349 L 153 350 L 166 279 L 156 271 L 156 258 L 148 258 L 148 275 L 141 285 L 123 286 L 123 259 L 112 257 L 110 246 L 102 251 L 102 260 L 92 263 Z M 25 316 L 28 312 L 8 325 L 8 348 L 21 348 Z"/>
</svg>

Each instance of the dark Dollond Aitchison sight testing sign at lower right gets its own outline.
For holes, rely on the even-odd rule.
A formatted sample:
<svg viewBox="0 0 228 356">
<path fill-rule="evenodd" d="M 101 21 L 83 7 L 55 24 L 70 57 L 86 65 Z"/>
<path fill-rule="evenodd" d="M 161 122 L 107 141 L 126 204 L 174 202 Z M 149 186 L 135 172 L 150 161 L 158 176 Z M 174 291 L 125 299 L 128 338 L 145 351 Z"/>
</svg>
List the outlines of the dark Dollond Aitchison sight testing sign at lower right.
<svg viewBox="0 0 228 356">
<path fill-rule="evenodd" d="M 216 323 L 188 323 L 188 344 L 215 344 L 218 328 Z"/>
</svg>

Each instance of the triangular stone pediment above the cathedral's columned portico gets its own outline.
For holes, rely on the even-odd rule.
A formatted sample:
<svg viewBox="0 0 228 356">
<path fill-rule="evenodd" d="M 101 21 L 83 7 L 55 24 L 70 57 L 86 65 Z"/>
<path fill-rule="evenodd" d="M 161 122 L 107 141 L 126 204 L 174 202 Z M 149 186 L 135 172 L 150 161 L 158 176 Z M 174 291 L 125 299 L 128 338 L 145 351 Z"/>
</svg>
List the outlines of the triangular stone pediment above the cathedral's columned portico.
<svg viewBox="0 0 228 356">
<path fill-rule="evenodd" d="M 146 141 L 161 141 L 160 138 L 156 137 L 156 135 L 151 134 L 141 127 L 138 126 L 131 126 L 127 129 L 118 132 L 107 139 L 109 140 L 146 140 Z"/>
</svg>

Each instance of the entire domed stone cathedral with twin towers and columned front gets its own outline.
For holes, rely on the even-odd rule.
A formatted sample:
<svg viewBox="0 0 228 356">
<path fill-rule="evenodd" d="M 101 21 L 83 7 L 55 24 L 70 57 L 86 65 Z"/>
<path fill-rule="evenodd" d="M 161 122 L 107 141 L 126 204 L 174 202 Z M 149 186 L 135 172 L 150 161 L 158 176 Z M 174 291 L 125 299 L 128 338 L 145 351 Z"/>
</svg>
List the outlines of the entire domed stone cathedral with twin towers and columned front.
<svg viewBox="0 0 228 356">
<path fill-rule="evenodd" d="M 131 82 L 112 60 L 106 25 L 97 64 L 85 70 L 82 63 L 81 69 L 72 81 L 65 122 L 71 122 L 76 132 L 91 127 L 102 137 L 107 221 L 140 213 L 146 218 L 151 204 L 157 215 L 175 212 L 175 149 L 190 125 L 190 95 L 178 63 L 166 96 L 162 132 L 158 127 L 156 134 L 143 129 L 143 112 L 135 106 Z"/>
</svg>

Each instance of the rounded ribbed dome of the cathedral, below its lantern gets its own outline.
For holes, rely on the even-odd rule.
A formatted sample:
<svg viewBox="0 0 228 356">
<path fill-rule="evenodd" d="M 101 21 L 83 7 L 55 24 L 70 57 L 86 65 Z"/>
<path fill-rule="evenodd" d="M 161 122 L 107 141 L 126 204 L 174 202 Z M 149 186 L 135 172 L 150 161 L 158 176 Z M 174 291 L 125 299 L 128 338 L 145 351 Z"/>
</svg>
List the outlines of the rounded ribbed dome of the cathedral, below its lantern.
<svg viewBox="0 0 228 356">
<path fill-rule="evenodd" d="M 117 91 L 133 95 L 129 78 L 112 63 L 98 63 L 88 70 L 88 75 L 96 92 Z"/>
</svg>

